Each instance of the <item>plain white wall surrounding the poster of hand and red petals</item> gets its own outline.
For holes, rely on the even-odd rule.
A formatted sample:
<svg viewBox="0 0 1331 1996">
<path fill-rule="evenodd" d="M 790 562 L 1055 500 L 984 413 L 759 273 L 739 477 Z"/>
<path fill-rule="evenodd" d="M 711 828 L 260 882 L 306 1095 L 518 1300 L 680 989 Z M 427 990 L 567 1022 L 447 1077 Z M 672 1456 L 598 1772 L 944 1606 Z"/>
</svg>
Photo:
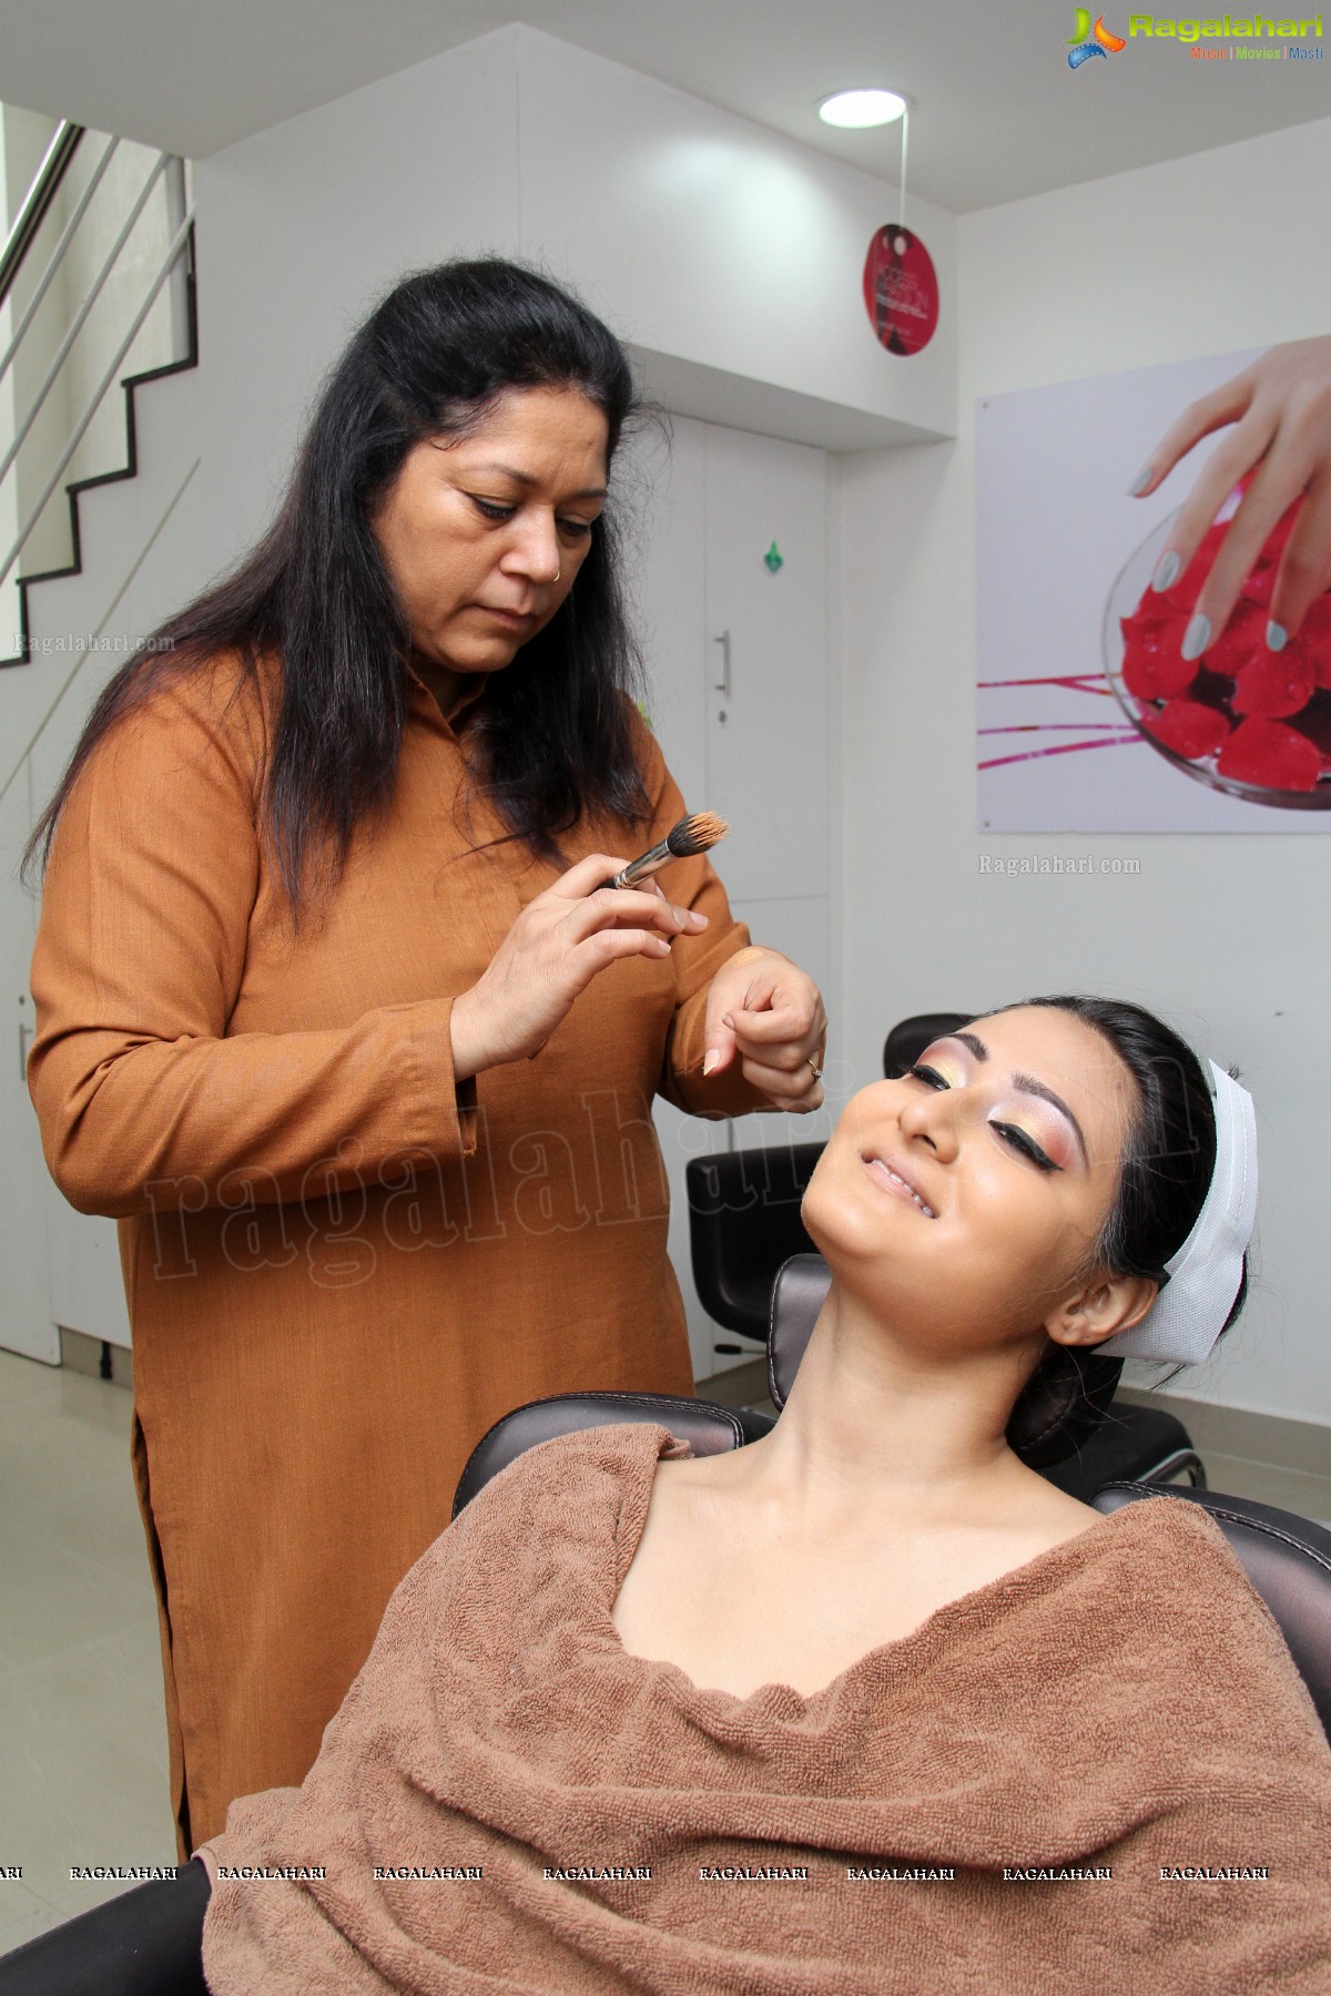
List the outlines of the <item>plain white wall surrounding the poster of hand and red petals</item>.
<svg viewBox="0 0 1331 1996">
<path fill-rule="evenodd" d="M 846 1044 L 934 1006 L 1102 990 L 1239 1062 L 1261 1138 L 1245 1317 L 1177 1391 L 1331 1421 L 1331 836 L 976 832 L 974 405 L 982 395 L 1331 331 L 1331 120 L 962 218 L 956 443 L 840 461 Z M 1072 443 L 1070 447 L 1076 447 Z M 1123 463 L 1121 485 L 1135 475 Z M 1078 850 L 1135 878 L 980 876 Z M 1331 1439 L 1331 1437 L 1329 1437 Z"/>
</svg>

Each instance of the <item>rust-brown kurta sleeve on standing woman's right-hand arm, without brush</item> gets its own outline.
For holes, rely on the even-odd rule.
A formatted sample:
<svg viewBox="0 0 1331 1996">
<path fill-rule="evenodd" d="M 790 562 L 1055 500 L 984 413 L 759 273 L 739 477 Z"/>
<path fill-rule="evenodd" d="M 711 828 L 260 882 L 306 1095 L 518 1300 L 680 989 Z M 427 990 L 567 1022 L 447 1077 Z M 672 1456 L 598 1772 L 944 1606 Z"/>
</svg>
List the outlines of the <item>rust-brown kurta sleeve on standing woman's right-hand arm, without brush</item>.
<svg viewBox="0 0 1331 1996">
<path fill-rule="evenodd" d="M 665 764 L 651 729 L 635 715 L 643 780 L 653 800 L 653 822 L 643 838 L 657 844 L 686 814 L 686 804 L 674 776 Z M 678 936 L 672 946 L 676 1002 L 661 1064 L 659 1094 L 690 1116 L 746 1116 L 750 1110 L 770 1110 L 772 1104 L 740 1074 L 734 1062 L 720 1074 L 702 1076 L 706 1054 L 706 992 L 720 966 L 738 950 L 748 948 L 744 922 L 730 914 L 726 890 L 704 852 L 688 860 L 672 860 L 663 880 L 665 892 L 680 908 L 696 908 L 708 918 L 700 936 Z"/>
</svg>

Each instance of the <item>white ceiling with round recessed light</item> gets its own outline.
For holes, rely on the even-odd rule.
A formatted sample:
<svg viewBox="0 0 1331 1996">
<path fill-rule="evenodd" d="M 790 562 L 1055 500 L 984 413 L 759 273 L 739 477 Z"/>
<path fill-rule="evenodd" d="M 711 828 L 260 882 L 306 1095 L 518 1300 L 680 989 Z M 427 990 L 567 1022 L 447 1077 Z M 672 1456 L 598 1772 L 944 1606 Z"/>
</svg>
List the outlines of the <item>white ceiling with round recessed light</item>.
<svg viewBox="0 0 1331 1996">
<path fill-rule="evenodd" d="M 910 184 L 956 212 L 1331 116 L 1331 60 L 1197 62 L 1137 38 L 1074 74 L 1062 0 L 0 0 L 0 98 L 202 158 L 487 34 L 515 4 L 533 28 L 894 180 L 896 128 L 838 134 L 814 114 L 830 90 L 890 84 L 914 104 Z M 1223 218 L 1207 226 L 1223 253 Z"/>
</svg>

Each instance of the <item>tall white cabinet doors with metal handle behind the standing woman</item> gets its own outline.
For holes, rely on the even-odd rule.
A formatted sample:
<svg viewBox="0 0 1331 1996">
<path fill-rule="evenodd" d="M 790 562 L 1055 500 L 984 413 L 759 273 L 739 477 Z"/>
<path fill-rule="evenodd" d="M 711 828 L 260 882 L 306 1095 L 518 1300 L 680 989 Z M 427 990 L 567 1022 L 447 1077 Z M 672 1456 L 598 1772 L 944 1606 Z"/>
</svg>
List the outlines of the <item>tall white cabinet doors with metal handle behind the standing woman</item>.
<svg viewBox="0 0 1331 1996">
<path fill-rule="evenodd" d="M 730 906 L 754 942 L 810 972 L 830 1010 L 826 457 L 676 419 L 668 451 L 651 437 L 639 447 L 631 483 L 657 739 L 688 808 L 730 820 L 714 854 Z M 670 1259 L 702 1379 L 730 1363 L 712 1345 L 736 1339 L 706 1317 L 692 1285 L 684 1166 L 712 1150 L 826 1138 L 826 1114 L 704 1124 L 659 1102 L 657 1128 Z"/>
</svg>

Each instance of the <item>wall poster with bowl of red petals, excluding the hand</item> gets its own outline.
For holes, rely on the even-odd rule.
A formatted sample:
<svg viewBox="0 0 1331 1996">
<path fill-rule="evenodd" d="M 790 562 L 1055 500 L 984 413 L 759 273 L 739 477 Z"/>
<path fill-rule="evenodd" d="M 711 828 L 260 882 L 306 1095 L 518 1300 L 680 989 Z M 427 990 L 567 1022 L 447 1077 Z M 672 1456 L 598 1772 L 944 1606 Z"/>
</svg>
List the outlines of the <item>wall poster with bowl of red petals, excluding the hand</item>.
<svg viewBox="0 0 1331 1996">
<path fill-rule="evenodd" d="M 1185 663 L 1181 637 L 1237 493 L 1187 571 L 1165 591 L 1149 585 L 1225 431 L 1151 497 L 1127 497 L 1187 403 L 1257 351 L 980 403 L 980 830 L 1331 830 L 1331 597 L 1325 619 L 1309 613 L 1297 655 L 1267 653 L 1277 529 L 1229 629 Z"/>
</svg>

